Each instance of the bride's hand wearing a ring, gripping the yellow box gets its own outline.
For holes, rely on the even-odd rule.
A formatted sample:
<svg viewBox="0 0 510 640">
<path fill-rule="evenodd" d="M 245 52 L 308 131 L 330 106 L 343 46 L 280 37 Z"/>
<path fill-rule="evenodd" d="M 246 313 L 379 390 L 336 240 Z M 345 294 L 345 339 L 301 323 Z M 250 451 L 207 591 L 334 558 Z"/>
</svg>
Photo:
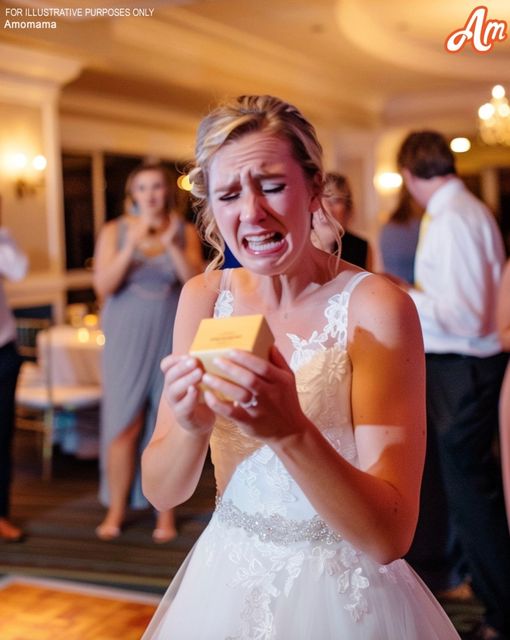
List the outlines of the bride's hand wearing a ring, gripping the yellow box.
<svg viewBox="0 0 510 640">
<path fill-rule="evenodd" d="M 203 376 L 211 389 L 205 391 L 204 399 L 215 413 L 266 442 L 281 440 L 302 428 L 304 414 L 294 373 L 276 347 L 272 347 L 269 361 L 235 349 L 219 358 L 217 365 L 230 380 L 208 373 Z M 222 399 L 224 396 L 229 400 Z"/>
</svg>

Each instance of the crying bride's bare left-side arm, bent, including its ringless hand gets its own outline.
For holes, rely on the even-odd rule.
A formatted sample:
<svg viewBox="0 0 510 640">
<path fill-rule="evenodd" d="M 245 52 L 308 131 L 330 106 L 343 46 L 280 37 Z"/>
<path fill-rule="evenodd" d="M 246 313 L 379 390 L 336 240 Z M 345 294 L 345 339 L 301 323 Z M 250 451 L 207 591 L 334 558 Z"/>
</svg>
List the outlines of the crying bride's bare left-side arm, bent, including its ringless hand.
<svg viewBox="0 0 510 640">
<path fill-rule="evenodd" d="M 200 275 L 183 288 L 174 325 L 174 352 L 165 374 L 156 428 L 142 455 L 143 491 L 159 510 L 187 500 L 200 479 L 214 413 L 201 401 L 202 369 L 186 354 L 203 317 L 212 315 L 219 274 Z"/>
</svg>

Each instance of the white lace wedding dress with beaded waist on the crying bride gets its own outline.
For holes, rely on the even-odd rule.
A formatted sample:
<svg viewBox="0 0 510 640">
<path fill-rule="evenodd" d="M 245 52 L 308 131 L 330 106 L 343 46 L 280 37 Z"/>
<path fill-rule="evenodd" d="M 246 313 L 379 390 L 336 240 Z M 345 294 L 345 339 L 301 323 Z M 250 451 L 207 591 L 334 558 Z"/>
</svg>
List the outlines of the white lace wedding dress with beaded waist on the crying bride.
<svg viewBox="0 0 510 640">
<path fill-rule="evenodd" d="M 353 465 L 347 310 L 366 275 L 311 314 L 309 339 L 287 333 L 301 406 Z M 215 316 L 234 304 L 222 289 Z M 268 446 L 218 420 L 211 453 L 221 497 L 142 640 L 459 639 L 409 565 L 378 564 L 331 530 Z"/>
</svg>

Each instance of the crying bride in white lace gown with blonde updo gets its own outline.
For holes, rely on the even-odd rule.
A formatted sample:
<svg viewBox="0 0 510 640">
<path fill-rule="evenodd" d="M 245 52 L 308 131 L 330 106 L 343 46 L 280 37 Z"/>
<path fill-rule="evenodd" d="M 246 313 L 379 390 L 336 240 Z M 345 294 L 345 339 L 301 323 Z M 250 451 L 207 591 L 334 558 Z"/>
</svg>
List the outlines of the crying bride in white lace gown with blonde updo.
<svg viewBox="0 0 510 640">
<path fill-rule="evenodd" d="M 203 120 L 190 179 L 218 255 L 181 294 L 143 487 L 159 510 L 184 502 L 210 446 L 218 497 L 143 640 L 458 638 L 401 560 L 425 453 L 419 322 L 389 280 L 312 244 L 313 127 L 243 96 Z M 225 243 L 242 268 L 214 270 Z M 253 313 L 268 361 L 231 350 L 220 377 L 188 355 L 202 318 Z"/>
</svg>

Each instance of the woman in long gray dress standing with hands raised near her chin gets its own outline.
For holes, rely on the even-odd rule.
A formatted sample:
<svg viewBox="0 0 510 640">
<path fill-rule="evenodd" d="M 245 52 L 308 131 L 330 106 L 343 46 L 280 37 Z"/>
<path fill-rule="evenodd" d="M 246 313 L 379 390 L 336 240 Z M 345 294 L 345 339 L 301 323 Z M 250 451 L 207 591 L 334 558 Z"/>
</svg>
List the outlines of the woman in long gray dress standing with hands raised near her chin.
<svg viewBox="0 0 510 640">
<path fill-rule="evenodd" d="M 145 508 L 140 453 L 150 438 L 163 386 L 161 359 L 172 350 L 184 282 L 203 269 L 191 223 L 175 211 L 161 164 L 137 167 L 126 182 L 127 212 L 108 222 L 96 245 L 94 288 L 103 303 L 100 500 L 108 507 L 96 534 L 120 535 L 126 509 Z M 155 542 L 176 535 L 172 511 L 159 512 Z"/>
</svg>

